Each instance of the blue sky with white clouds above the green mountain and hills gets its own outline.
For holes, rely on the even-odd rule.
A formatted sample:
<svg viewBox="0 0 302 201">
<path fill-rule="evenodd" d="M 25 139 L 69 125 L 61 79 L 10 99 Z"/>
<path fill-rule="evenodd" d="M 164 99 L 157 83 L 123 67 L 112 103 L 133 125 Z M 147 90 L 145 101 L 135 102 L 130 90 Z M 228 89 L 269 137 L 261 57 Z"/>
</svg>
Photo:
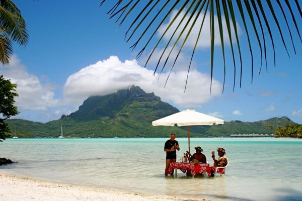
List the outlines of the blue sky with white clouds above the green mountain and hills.
<svg viewBox="0 0 302 201">
<path fill-rule="evenodd" d="M 201 32 L 203 40 L 197 45 L 185 90 L 191 51 L 195 44 L 193 37 L 188 38 L 168 80 L 173 60 L 168 61 L 162 73 L 162 67 L 159 67 L 154 74 L 164 45 L 155 50 L 154 56 L 144 68 L 145 61 L 164 33 L 167 22 L 155 34 L 156 40 L 151 42 L 152 45 L 136 59 L 137 53 L 144 45 L 143 42 L 146 41 L 142 39 L 137 48 L 129 49 L 135 41 L 124 41 L 124 34 L 130 26 L 129 21 L 119 27 L 114 23 L 114 19 L 109 19 L 106 13 L 112 6 L 110 1 L 102 7 L 101 0 L 91 0 L 84 4 L 79 0 L 14 2 L 27 23 L 30 37 L 26 47 L 13 45 L 14 55 L 9 65 L 0 65 L 0 74 L 18 85 L 19 96 L 15 98 L 15 105 L 18 106 L 20 114 L 13 118 L 42 123 L 57 120 L 62 115 L 77 111 L 90 95 L 110 94 L 134 84 L 146 92 L 154 92 L 163 102 L 180 111 L 192 109 L 224 121 L 244 122 L 286 116 L 302 124 L 302 46 L 294 31 L 292 35 L 296 54 L 291 43 L 287 43 L 289 58 L 281 37 L 275 35 L 276 66 L 270 45 L 267 47 L 268 72 L 263 62 L 260 75 L 260 51 L 257 41 L 252 39 L 255 52 L 251 83 L 249 46 L 247 36 L 243 32 L 244 26 L 239 22 L 239 40 L 243 44 L 242 86 L 240 87 L 237 57 L 233 91 L 234 65 L 230 42 L 226 42 L 226 77 L 222 92 L 223 59 L 219 32 L 215 29 L 217 51 L 210 92 L 210 30 L 209 18 L 206 17 L 205 28 Z M 294 12 L 298 16 L 295 10 Z M 173 13 L 175 14 L 176 12 Z M 171 18 L 168 20 L 171 21 Z M 298 27 L 301 27 L 301 22 L 301 18 L 297 18 Z M 289 23 L 289 26 L 292 30 L 293 25 Z M 281 24 L 281 28 L 285 29 L 284 38 L 288 39 L 286 25 Z M 278 32 L 276 26 L 272 26 L 272 32 Z M 198 29 L 194 27 L 192 36 L 197 34 Z M 172 32 L 168 32 L 163 40 L 167 42 L 171 35 Z M 268 33 L 265 35 L 269 44 Z M 232 40 L 236 45 L 235 38 Z M 176 54 L 177 51 L 172 52 L 172 55 Z"/>
</svg>

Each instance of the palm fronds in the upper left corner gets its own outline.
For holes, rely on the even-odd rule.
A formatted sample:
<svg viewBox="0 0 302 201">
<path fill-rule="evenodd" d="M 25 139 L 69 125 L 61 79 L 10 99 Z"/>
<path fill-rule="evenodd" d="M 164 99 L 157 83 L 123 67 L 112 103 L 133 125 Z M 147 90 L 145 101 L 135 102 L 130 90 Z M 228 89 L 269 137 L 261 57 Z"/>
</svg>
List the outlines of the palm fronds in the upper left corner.
<svg viewBox="0 0 302 201">
<path fill-rule="evenodd" d="M 0 0 L 0 62 L 9 64 L 12 41 L 26 45 L 28 34 L 20 10 L 11 0 Z"/>
</svg>

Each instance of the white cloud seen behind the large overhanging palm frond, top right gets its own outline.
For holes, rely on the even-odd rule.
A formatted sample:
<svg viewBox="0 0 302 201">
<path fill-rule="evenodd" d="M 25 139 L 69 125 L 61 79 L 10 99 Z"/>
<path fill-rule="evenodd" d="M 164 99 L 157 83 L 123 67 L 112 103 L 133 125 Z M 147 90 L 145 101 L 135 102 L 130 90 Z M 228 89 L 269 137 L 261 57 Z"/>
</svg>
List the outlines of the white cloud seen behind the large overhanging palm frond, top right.
<svg viewBox="0 0 302 201">
<path fill-rule="evenodd" d="M 174 17 L 176 16 L 176 14 L 178 13 L 178 11 L 174 11 L 172 13 L 172 15 L 170 16 L 169 22 L 167 24 L 164 24 L 163 26 L 160 27 L 159 29 L 159 34 L 163 35 L 164 32 L 166 31 L 167 27 L 169 26 L 169 24 L 172 22 L 172 20 L 174 19 Z M 165 40 L 170 40 L 171 36 L 173 35 L 174 30 L 177 28 L 178 24 L 180 23 L 181 19 L 183 18 L 183 16 L 185 15 L 185 12 L 182 12 L 177 19 L 175 20 L 175 22 L 173 23 L 173 25 L 170 27 L 170 29 L 167 31 L 167 33 L 164 36 Z M 180 35 L 181 31 L 183 30 L 183 28 L 185 27 L 186 22 L 189 20 L 189 17 L 191 14 L 189 13 L 186 17 L 185 20 L 182 22 L 182 25 L 178 28 L 178 31 L 175 33 L 174 35 L 174 40 L 177 39 L 177 37 Z M 202 23 L 202 19 L 203 19 L 203 15 L 204 13 L 202 12 L 199 16 L 198 16 L 198 20 L 196 21 L 190 36 L 188 37 L 186 44 L 187 46 L 190 47 L 194 47 L 195 43 L 196 43 L 196 39 L 199 33 L 199 29 L 200 29 L 200 25 Z M 186 31 L 184 31 L 184 33 L 182 34 L 182 37 L 180 39 L 181 43 L 183 42 L 183 40 L 185 39 L 191 25 L 193 22 L 193 19 L 195 18 L 196 14 L 194 15 L 194 17 L 192 18 L 191 22 L 188 24 L 188 26 L 186 27 Z M 232 21 L 231 23 L 231 32 L 232 35 L 234 36 L 234 29 L 233 29 L 233 24 Z M 237 29 L 238 29 L 238 33 L 239 35 L 242 33 L 242 30 L 240 28 L 240 26 L 238 24 L 236 24 Z M 226 23 L 225 23 L 225 18 L 222 16 L 222 27 L 223 27 L 223 41 L 225 44 L 230 44 L 229 41 L 229 35 L 228 35 L 228 30 L 226 28 Z M 219 26 L 218 26 L 218 21 L 217 21 L 217 16 L 214 16 L 214 30 L 215 30 L 215 40 L 214 40 L 214 44 L 215 45 L 220 45 L 220 34 L 219 34 Z M 177 37 L 175 37 L 177 36 Z M 197 47 L 202 47 L 202 48 L 207 48 L 210 47 L 210 19 L 209 19 L 209 14 L 207 13 L 203 26 L 202 26 L 202 31 L 200 33 L 200 37 L 199 37 L 199 42 L 197 44 Z M 235 36 L 232 38 L 233 43 L 236 43 L 236 38 Z"/>
</svg>

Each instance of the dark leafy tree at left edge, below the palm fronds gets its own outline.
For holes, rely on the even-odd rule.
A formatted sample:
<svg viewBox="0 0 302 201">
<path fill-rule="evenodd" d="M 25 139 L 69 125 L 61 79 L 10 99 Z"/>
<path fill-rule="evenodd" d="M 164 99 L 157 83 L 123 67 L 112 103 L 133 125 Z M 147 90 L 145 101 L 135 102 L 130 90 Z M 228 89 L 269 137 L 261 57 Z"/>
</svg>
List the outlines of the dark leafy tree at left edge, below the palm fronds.
<svg viewBox="0 0 302 201">
<path fill-rule="evenodd" d="M 5 120 L 18 114 L 17 107 L 14 106 L 14 97 L 18 96 L 16 87 L 17 85 L 12 84 L 9 79 L 0 76 L 0 142 L 6 139 L 10 131 Z"/>
</svg>

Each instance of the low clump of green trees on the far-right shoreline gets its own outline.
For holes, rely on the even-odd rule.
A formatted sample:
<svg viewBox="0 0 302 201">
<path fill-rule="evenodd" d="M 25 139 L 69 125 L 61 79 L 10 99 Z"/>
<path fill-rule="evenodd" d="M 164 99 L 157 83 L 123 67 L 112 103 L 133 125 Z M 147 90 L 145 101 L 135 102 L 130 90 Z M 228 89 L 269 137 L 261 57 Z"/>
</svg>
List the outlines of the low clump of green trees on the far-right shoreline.
<svg viewBox="0 0 302 201">
<path fill-rule="evenodd" d="M 277 127 L 275 137 L 302 138 L 302 125 L 286 124 L 284 128 Z"/>
</svg>

